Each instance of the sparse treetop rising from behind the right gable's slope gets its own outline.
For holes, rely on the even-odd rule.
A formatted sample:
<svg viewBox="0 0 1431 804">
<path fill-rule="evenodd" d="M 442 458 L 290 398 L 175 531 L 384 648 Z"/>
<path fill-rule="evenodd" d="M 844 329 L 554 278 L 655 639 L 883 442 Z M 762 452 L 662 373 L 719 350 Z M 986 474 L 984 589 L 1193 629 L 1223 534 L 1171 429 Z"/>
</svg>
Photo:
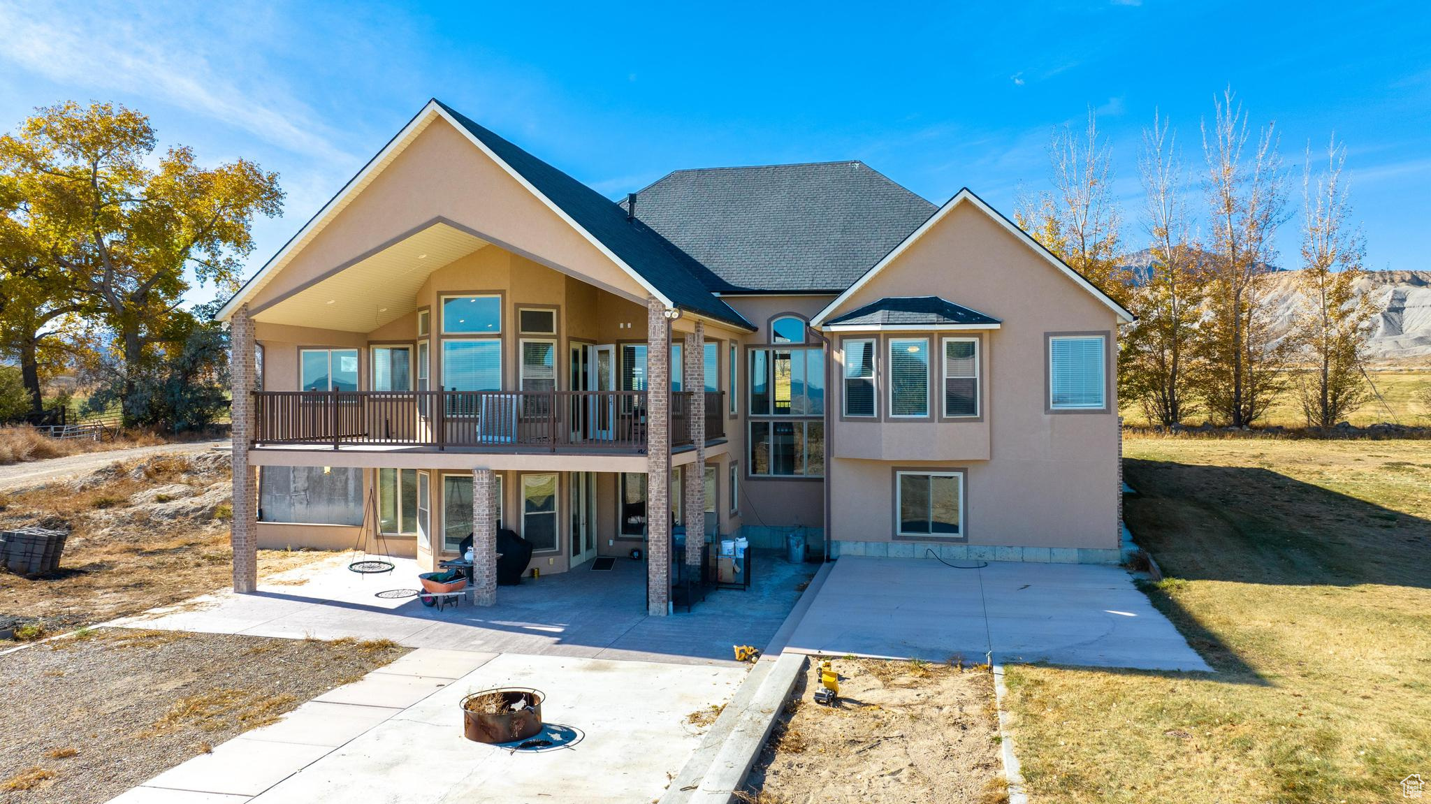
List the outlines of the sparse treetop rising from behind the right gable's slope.
<svg viewBox="0 0 1431 804">
<path fill-rule="evenodd" d="M 1082 133 L 1070 126 L 1055 129 L 1049 162 L 1053 192 L 1020 199 L 1015 222 L 1105 293 L 1122 296 L 1113 160 L 1092 109 Z"/>
</svg>

